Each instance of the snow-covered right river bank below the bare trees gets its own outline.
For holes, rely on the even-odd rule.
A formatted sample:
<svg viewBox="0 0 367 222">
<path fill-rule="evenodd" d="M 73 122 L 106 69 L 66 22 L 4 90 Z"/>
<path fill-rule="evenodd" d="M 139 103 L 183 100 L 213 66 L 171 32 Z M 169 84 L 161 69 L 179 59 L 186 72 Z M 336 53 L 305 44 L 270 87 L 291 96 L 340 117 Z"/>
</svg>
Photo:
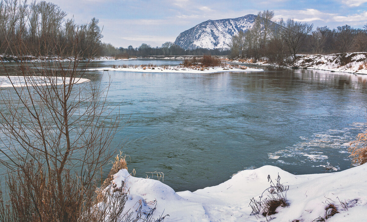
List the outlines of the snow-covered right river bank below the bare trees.
<svg viewBox="0 0 367 222">
<path fill-rule="evenodd" d="M 266 59 L 255 62 L 249 60 L 233 60 L 238 63 L 251 63 L 261 65 L 276 65 Z M 349 72 L 355 74 L 367 74 L 367 53 L 338 53 L 330 55 L 298 55 L 297 60 L 288 67 L 320 69 L 333 72 Z"/>
</svg>

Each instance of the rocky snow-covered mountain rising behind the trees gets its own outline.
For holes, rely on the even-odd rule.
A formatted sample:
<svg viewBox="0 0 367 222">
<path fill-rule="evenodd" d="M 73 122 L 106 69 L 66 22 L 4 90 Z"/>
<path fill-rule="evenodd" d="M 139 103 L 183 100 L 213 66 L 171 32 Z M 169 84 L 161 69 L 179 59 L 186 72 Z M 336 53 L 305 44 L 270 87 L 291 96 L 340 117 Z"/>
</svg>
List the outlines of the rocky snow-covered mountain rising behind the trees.
<svg viewBox="0 0 367 222">
<path fill-rule="evenodd" d="M 232 35 L 250 29 L 257 15 L 245 15 L 235 19 L 207 20 L 178 35 L 175 44 L 183 49 L 228 48 Z"/>
</svg>

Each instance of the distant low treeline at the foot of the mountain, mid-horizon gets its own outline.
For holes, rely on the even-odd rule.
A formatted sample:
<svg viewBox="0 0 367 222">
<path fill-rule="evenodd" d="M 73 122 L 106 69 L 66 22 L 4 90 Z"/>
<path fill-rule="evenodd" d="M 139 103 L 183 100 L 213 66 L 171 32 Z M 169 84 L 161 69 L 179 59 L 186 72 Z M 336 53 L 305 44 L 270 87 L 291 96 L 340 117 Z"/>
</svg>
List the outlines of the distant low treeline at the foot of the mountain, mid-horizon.
<svg viewBox="0 0 367 222">
<path fill-rule="evenodd" d="M 197 48 L 193 50 L 185 50 L 180 46 L 173 44 L 173 42 L 165 42 L 161 47 L 151 47 L 145 43 L 141 44 L 139 48 L 134 48 L 129 45 L 127 48 L 115 48 L 111 44 L 103 44 L 103 55 L 115 56 L 115 57 L 133 57 L 133 56 L 203 56 L 203 55 L 215 55 L 226 56 L 230 53 L 230 50 L 224 49 L 203 49 Z"/>
</svg>

